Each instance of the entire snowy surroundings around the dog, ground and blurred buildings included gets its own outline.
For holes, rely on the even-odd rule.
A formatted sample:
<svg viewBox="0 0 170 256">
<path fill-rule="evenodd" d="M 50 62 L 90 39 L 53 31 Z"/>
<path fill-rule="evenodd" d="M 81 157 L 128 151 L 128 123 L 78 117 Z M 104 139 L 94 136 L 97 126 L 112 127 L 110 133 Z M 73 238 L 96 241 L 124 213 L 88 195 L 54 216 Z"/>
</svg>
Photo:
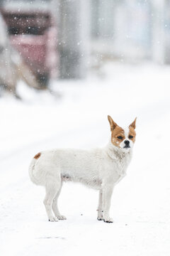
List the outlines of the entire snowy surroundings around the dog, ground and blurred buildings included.
<svg viewBox="0 0 170 256">
<path fill-rule="evenodd" d="M 169 64 L 170 0 L 0 0 L 1 255 L 170 255 Z M 108 114 L 137 117 L 115 223 L 97 223 L 98 191 L 66 183 L 67 220 L 49 225 L 30 160 L 106 145 Z"/>
</svg>

